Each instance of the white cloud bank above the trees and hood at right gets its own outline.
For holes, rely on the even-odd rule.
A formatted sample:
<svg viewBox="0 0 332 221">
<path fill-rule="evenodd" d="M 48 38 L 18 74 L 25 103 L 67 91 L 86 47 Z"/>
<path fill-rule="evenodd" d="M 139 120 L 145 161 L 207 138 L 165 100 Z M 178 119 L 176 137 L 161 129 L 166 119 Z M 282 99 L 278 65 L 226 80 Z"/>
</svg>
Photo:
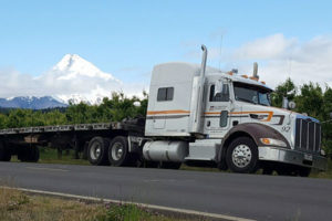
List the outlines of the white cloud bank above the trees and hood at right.
<svg viewBox="0 0 332 221">
<path fill-rule="evenodd" d="M 314 82 L 323 87 L 332 86 L 332 38 L 329 35 L 304 42 L 282 34 L 258 39 L 230 52 L 226 66 L 237 65 L 240 73 L 250 74 L 255 61 L 259 63 L 261 80 L 271 87 L 287 77 L 298 85 Z"/>
</svg>

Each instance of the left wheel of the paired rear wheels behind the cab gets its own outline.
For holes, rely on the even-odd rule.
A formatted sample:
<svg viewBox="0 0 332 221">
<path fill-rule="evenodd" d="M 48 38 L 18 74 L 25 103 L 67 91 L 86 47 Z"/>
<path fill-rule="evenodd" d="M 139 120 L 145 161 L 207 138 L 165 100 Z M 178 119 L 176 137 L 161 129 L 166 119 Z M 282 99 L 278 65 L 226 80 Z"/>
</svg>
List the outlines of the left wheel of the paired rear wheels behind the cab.
<svg viewBox="0 0 332 221">
<path fill-rule="evenodd" d="M 107 151 L 110 139 L 103 137 L 94 137 L 87 146 L 87 160 L 92 165 L 102 166 L 108 165 Z"/>
</svg>

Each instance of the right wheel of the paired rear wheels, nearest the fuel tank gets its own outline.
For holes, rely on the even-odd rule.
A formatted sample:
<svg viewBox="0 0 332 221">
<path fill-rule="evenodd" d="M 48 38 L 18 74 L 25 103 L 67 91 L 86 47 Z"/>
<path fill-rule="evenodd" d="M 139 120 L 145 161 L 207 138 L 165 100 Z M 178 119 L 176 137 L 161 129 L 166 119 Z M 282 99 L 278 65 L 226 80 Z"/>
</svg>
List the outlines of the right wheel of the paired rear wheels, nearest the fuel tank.
<svg viewBox="0 0 332 221">
<path fill-rule="evenodd" d="M 117 136 L 112 139 L 108 148 L 108 160 L 114 167 L 134 166 L 135 159 L 129 154 L 128 140 L 126 137 Z"/>
</svg>

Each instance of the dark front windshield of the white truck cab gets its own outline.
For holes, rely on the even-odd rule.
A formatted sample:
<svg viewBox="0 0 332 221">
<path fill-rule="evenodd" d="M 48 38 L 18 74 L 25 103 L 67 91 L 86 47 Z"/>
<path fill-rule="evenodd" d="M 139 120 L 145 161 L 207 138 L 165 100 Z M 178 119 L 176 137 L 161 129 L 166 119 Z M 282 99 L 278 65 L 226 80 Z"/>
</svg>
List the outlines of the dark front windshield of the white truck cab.
<svg viewBox="0 0 332 221">
<path fill-rule="evenodd" d="M 241 102 L 248 102 L 252 104 L 260 104 L 264 106 L 271 106 L 270 91 L 261 88 L 259 86 L 243 84 L 239 82 L 234 83 L 235 98 Z"/>
</svg>

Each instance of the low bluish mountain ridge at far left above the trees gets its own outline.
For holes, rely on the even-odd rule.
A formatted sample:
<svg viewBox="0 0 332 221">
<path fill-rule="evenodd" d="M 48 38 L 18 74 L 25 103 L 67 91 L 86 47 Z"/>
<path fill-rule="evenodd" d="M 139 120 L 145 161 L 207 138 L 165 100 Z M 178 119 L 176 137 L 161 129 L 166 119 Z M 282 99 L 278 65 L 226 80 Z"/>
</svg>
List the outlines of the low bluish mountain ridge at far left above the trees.
<svg viewBox="0 0 332 221">
<path fill-rule="evenodd" d="M 53 107 L 66 107 L 68 105 L 51 97 L 20 96 L 11 98 L 0 98 L 0 107 L 7 108 L 27 108 L 27 109 L 46 109 Z"/>
</svg>

